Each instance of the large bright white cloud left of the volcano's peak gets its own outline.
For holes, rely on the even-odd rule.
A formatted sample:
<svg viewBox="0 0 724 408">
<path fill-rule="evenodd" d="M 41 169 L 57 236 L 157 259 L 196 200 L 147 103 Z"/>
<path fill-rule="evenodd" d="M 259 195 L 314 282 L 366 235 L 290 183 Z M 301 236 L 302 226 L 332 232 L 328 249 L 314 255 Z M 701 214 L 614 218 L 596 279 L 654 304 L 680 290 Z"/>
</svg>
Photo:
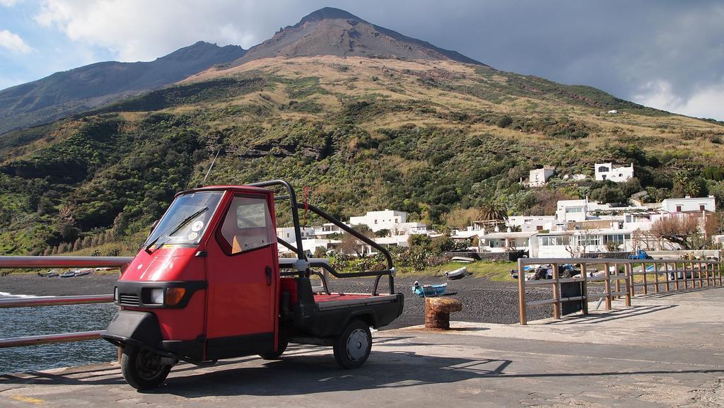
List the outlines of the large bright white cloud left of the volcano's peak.
<svg viewBox="0 0 724 408">
<path fill-rule="evenodd" d="M 196 41 L 248 48 L 274 32 L 281 4 L 253 0 L 43 0 L 35 21 L 122 61 L 150 60 Z M 297 18 L 300 16 L 297 16 Z"/>
</svg>

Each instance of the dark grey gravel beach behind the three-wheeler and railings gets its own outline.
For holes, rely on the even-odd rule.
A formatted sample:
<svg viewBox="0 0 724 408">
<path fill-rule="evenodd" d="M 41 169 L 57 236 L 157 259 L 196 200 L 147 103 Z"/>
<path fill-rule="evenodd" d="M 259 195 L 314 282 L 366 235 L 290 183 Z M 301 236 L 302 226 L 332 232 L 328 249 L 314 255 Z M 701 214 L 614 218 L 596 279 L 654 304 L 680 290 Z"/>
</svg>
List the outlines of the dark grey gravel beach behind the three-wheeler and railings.
<svg viewBox="0 0 724 408">
<path fill-rule="evenodd" d="M 11 274 L 0 277 L 0 292 L 37 296 L 69 296 L 111 293 L 114 274 L 92 274 L 77 278 L 40 278 L 30 273 Z M 405 308 L 388 328 L 419 325 L 424 322 L 424 299 L 412 293 L 415 278 L 395 279 L 395 290 L 405 294 Z M 421 284 L 442 283 L 444 278 L 422 278 Z M 331 291 L 369 293 L 372 279 L 332 279 Z M 387 280 L 380 283 L 380 291 L 387 291 Z M 452 296 L 463 302 L 463 311 L 451 316 L 452 320 L 489 323 L 518 322 L 518 284 L 493 282 L 485 278 L 470 276 L 448 282 L 445 296 Z M 542 288 L 526 291 L 529 300 L 550 299 L 551 292 Z M 550 307 L 529 308 L 529 320 L 551 317 Z"/>
</svg>

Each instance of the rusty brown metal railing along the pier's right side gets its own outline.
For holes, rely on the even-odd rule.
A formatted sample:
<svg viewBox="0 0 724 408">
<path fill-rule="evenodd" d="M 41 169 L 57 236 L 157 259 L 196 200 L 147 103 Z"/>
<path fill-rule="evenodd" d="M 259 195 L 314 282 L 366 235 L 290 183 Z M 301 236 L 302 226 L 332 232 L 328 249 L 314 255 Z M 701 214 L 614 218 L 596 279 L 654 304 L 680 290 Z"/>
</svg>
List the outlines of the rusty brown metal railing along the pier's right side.
<svg viewBox="0 0 724 408">
<path fill-rule="evenodd" d="M 526 280 L 526 265 L 550 265 L 552 278 Z M 562 278 L 559 267 L 578 266 L 580 272 L 571 277 Z M 600 275 L 593 276 L 590 267 L 597 267 Z M 640 278 L 639 278 L 640 277 Z M 602 293 L 591 293 L 589 282 L 603 282 Z M 579 296 L 561 296 L 562 283 L 579 283 Z M 697 286 L 698 284 L 698 286 Z M 550 286 L 552 299 L 528 301 L 526 287 Z M 605 309 L 611 309 L 613 299 L 623 296 L 626 306 L 631 306 L 631 298 L 636 288 L 641 294 L 681 291 L 689 288 L 722 286 L 722 262 L 688 259 L 610 259 L 610 258 L 521 258 L 518 259 L 518 306 L 521 325 L 528 324 L 528 307 L 553 306 L 553 318 L 561 318 L 561 308 L 566 302 L 581 302 L 581 312 L 588 314 L 588 302 L 592 299 L 604 299 Z M 597 287 L 600 288 L 600 287 Z"/>
</svg>

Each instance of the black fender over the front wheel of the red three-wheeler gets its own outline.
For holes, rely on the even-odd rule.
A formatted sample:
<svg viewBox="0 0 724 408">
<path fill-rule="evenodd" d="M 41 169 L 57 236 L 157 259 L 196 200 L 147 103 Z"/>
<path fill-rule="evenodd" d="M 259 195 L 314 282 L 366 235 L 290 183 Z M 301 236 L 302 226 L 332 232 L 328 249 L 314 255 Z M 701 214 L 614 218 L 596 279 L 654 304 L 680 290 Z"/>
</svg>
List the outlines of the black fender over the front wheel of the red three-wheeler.
<svg viewBox="0 0 724 408">
<path fill-rule="evenodd" d="M 101 338 L 117 346 L 132 344 L 144 349 L 161 349 L 161 326 L 156 315 L 149 312 L 122 310 L 113 317 Z M 164 353 L 167 354 L 167 353 Z"/>
</svg>

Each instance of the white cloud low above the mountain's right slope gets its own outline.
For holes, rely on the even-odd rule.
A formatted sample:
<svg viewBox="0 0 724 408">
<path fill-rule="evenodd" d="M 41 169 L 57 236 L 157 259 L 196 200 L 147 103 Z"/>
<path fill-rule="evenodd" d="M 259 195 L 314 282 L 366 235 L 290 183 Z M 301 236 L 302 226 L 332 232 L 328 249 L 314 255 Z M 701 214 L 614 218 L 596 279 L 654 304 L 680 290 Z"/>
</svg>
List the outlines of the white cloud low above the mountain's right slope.
<svg viewBox="0 0 724 408">
<path fill-rule="evenodd" d="M 682 115 L 724 120 L 724 81 L 697 88 L 689 96 L 680 96 L 667 81 L 654 80 L 641 88 L 633 101 Z"/>
</svg>

